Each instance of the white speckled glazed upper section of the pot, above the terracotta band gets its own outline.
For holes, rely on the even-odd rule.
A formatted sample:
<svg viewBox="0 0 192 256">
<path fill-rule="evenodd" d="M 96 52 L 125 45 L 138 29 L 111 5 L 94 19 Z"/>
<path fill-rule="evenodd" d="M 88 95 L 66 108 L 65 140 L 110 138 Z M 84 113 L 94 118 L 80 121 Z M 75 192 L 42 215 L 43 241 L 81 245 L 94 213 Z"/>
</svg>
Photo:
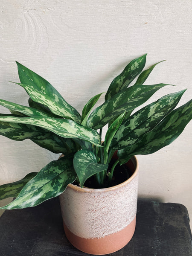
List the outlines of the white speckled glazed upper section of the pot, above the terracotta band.
<svg viewBox="0 0 192 256">
<path fill-rule="evenodd" d="M 127 227 L 137 212 L 138 163 L 125 182 L 106 189 L 87 189 L 69 184 L 60 195 L 64 224 L 76 236 L 94 239 Z"/>
</svg>

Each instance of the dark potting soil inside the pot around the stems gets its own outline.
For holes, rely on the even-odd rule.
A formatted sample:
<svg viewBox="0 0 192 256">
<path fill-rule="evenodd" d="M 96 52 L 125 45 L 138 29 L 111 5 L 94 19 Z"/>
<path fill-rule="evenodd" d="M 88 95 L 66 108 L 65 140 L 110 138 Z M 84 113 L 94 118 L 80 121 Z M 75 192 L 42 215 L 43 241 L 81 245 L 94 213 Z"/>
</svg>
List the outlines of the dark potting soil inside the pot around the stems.
<svg viewBox="0 0 192 256">
<path fill-rule="evenodd" d="M 108 172 L 110 172 L 111 167 L 113 166 L 113 163 L 115 163 L 116 160 L 111 160 L 108 167 Z M 108 183 L 108 178 L 105 180 L 105 183 L 103 186 L 99 186 L 99 184 L 96 182 L 96 178 L 94 176 L 88 178 L 85 183 L 84 187 L 92 188 L 92 189 L 102 189 L 102 188 L 108 188 L 111 186 L 119 185 L 120 183 L 124 182 L 125 180 L 128 180 L 129 177 L 131 177 L 132 172 L 126 165 L 120 166 L 119 163 L 116 165 L 114 172 L 113 172 L 113 178 L 110 183 Z M 79 184 L 75 181 L 73 182 L 74 185 L 79 186 Z"/>
</svg>

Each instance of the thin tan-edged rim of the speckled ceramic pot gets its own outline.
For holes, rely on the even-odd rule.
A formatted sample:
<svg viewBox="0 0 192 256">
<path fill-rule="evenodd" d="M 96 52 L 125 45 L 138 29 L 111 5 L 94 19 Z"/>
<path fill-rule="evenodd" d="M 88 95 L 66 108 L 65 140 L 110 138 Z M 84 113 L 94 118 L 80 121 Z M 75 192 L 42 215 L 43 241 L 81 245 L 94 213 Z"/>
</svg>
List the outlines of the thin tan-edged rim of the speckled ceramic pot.
<svg viewBox="0 0 192 256">
<path fill-rule="evenodd" d="M 68 184 L 67 187 L 70 188 L 70 189 L 75 189 L 76 191 L 79 191 L 79 192 L 104 192 L 104 191 L 111 191 L 111 190 L 115 190 L 117 188 L 120 188 L 120 187 L 123 187 L 123 186 L 126 186 L 128 183 L 131 182 L 131 180 L 134 179 L 134 177 L 137 176 L 137 173 L 138 173 L 138 170 L 139 170 L 139 163 L 138 163 L 138 160 L 137 160 L 137 157 L 136 156 L 133 156 L 130 158 L 130 160 L 132 161 L 132 163 L 134 164 L 134 167 L 135 167 L 135 170 L 134 170 L 134 173 L 131 175 L 131 177 L 128 178 L 128 180 L 125 180 L 124 182 L 122 183 L 119 183 L 118 185 L 116 186 L 112 186 L 112 187 L 108 187 L 108 188 L 102 188 L 102 189 L 91 189 L 91 188 L 85 188 L 85 187 L 80 187 L 80 186 L 77 186 L 77 185 L 73 185 L 73 184 Z"/>
</svg>

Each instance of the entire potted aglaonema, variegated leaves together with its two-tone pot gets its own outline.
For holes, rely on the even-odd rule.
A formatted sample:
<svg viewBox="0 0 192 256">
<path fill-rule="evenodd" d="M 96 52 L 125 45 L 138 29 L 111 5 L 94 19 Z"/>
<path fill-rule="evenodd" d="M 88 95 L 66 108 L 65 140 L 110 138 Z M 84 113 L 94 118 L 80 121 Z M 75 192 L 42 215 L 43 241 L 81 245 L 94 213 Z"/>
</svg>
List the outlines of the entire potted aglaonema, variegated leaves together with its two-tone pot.
<svg viewBox="0 0 192 256">
<path fill-rule="evenodd" d="M 29 107 L 1 99 L 11 114 L 0 114 L 0 134 L 30 139 L 63 156 L 40 172 L 0 186 L 0 199 L 16 198 L 0 209 L 33 207 L 60 195 L 65 233 L 77 248 L 106 254 L 128 243 L 137 209 L 135 155 L 169 145 L 192 119 L 192 100 L 175 108 L 185 90 L 134 111 L 168 85 L 143 84 L 156 66 L 143 71 L 145 61 L 146 54 L 131 61 L 111 82 L 105 102 L 93 110 L 102 93 L 93 96 L 81 115 L 48 81 L 17 62 L 16 84 L 28 93 Z"/>
</svg>

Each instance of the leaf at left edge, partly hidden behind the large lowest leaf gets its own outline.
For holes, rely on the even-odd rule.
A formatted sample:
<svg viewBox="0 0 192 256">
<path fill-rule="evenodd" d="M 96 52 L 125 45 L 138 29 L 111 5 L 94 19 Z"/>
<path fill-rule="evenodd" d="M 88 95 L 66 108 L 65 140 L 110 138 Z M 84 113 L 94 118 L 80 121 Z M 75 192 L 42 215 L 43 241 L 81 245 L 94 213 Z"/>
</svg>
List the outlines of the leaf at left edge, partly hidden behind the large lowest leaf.
<svg viewBox="0 0 192 256">
<path fill-rule="evenodd" d="M 26 183 L 35 177 L 38 172 L 31 172 L 26 175 L 22 180 L 18 180 L 16 182 L 3 184 L 0 186 L 0 200 L 10 197 L 17 197 L 20 193 L 21 189 L 26 185 Z"/>
</svg>

